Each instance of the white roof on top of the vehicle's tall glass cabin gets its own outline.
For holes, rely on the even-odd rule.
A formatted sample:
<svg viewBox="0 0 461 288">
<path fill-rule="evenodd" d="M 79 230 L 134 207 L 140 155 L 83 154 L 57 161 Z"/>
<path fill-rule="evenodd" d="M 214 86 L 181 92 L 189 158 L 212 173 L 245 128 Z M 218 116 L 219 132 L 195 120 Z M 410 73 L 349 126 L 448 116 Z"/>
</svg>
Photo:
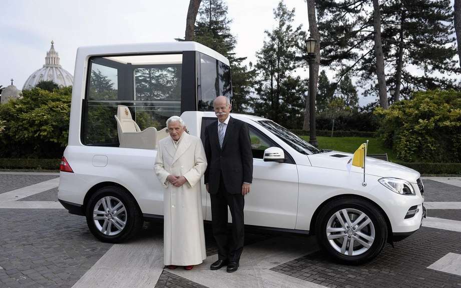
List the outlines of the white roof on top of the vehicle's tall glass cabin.
<svg viewBox="0 0 461 288">
<path fill-rule="evenodd" d="M 146 53 L 174 53 L 183 51 L 199 51 L 207 54 L 226 65 L 229 60 L 215 50 L 194 41 L 130 43 L 114 45 L 82 46 L 77 50 L 87 56 L 117 55 L 117 54 L 146 54 Z"/>
</svg>

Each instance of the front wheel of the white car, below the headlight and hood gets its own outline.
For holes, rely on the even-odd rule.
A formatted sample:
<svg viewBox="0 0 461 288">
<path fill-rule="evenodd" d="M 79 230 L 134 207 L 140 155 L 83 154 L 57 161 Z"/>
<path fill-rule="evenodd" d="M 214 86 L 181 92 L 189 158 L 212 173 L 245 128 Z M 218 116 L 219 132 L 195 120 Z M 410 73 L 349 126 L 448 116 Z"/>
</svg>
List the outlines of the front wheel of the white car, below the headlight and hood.
<svg viewBox="0 0 461 288">
<path fill-rule="evenodd" d="M 349 264 L 373 259 L 387 239 L 386 220 L 380 209 L 356 197 L 336 198 L 323 206 L 315 232 L 323 250 Z"/>
</svg>

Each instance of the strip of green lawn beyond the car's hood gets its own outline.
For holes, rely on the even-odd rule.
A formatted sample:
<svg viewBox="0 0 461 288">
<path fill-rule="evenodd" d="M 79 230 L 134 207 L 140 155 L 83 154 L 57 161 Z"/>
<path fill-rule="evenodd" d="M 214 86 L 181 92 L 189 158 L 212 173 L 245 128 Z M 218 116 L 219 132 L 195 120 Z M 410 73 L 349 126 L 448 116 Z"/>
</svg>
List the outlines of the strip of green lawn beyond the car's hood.
<svg viewBox="0 0 461 288">
<path fill-rule="evenodd" d="M 309 141 L 309 136 L 301 136 Z M 397 159 L 392 153 L 392 149 L 384 147 L 378 138 L 372 137 L 324 137 L 317 136 L 318 146 L 321 149 L 331 149 L 342 152 L 353 153 L 361 143 L 368 142 L 368 154 L 384 154 L 387 153 L 389 161 L 395 162 Z"/>
</svg>

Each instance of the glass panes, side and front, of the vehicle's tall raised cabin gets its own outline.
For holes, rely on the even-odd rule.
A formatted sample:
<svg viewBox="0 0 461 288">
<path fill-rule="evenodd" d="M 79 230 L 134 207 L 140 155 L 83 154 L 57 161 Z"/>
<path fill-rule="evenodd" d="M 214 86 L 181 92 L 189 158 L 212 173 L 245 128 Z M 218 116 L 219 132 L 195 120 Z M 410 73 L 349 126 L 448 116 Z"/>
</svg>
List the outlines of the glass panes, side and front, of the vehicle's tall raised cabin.
<svg viewBox="0 0 461 288">
<path fill-rule="evenodd" d="M 81 139 L 85 145 L 119 146 L 118 105 L 128 107 L 141 130 L 160 130 L 170 116 L 213 110 L 219 95 L 232 98 L 229 66 L 198 51 L 92 56 Z"/>
</svg>

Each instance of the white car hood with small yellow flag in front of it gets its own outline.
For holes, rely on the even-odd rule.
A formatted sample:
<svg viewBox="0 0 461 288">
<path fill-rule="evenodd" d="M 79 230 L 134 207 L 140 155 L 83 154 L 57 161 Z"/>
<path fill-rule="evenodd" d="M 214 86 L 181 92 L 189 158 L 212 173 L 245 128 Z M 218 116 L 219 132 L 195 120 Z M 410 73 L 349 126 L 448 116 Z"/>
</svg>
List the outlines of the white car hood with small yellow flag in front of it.
<svg viewBox="0 0 461 288">
<path fill-rule="evenodd" d="M 329 151 L 308 155 L 312 166 L 344 171 L 348 171 L 347 162 L 352 158 L 352 156 L 353 154 L 351 153 L 341 151 Z M 350 170 L 352 172 L 363 173 L 363 169 L 356 166 L 351 166 Z M 372 157 L 366 157 L 365 173 L 378 177 L 400 178 L 413 183 L 415 183 L 416 179 L 420 177 L 419 172 L 416 170 Z"/>
</svg>

